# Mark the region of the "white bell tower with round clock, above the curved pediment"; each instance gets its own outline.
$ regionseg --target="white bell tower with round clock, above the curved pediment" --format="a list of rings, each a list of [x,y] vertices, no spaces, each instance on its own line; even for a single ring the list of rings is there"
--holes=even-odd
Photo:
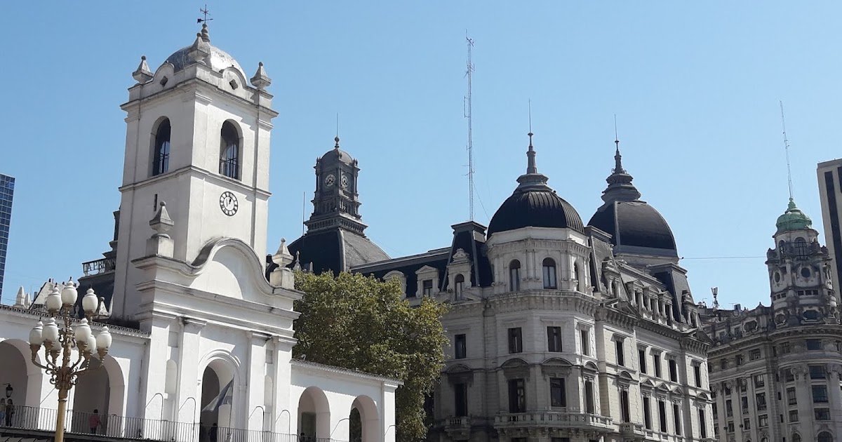
[[[127,116],[115,316],[136,312],[148,225],[159,202],[174,221],[173,258],[192,263],[213,239],[237,238],[264,256],[269,200],[271,80],[263,63],[249,80],[239,63],[210,45],[207,24],[192,45],[155,72],[146,56],[121,106]]]

